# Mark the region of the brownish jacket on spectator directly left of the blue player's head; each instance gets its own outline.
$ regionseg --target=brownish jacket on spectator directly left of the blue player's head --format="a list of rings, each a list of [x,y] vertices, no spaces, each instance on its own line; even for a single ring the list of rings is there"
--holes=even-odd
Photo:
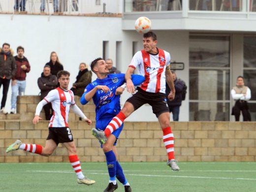
[[[76,87],[76,89],[72,89],[75,96],[82,96],[86,86],[92,83],[92,71],[88,71],[88,69],[84,69],[84,71],[85,70],[86,72],[82,74],[81,77],[79,77],[75,83],[73,83],[73,86]]]

